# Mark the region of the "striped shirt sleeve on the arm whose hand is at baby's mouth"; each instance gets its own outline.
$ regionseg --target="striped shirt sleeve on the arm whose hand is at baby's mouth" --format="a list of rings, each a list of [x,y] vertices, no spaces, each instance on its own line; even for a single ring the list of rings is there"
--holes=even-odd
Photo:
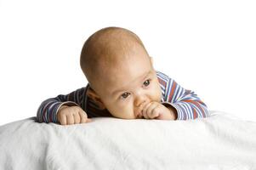
[[[207,105],[199,99],[197,94],[182,88],[169,77],[162,105],[172,105],[177,111],[177,120],[189,120],[208,116]]]

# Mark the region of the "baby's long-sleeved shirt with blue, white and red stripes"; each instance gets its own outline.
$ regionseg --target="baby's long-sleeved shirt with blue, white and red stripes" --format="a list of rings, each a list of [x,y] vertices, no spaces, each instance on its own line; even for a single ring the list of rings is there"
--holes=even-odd
[[[166,106],[172,105],[176,109],[177,120],[208,116],[207,105],[193,91],[182,88],[172,78],[160,71],[156,71],[156,76],[162,89],[161,103]],[[71,94],[60,94],[55,98],[44,100],[37,110],[37,121],[60,123],[57,120],[57,112],[61,105],[80,106],[88,114],[88,117],[111,116],[109,111],[101,110],[94,100],[88,97],[89,90],[90,87],[87,85]]]

